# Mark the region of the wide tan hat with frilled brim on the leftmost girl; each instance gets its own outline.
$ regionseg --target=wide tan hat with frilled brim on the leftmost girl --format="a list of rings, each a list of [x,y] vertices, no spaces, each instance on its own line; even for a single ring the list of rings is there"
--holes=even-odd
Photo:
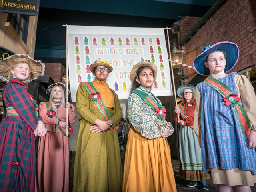
[[[38,78],[38,76],[40,75],[44,76],[44,63],[34,60],[28,54],[14,54],[7,58],[4,58],[3,60],[0,60],[0,79],[9,82],[9,69],[19,62],[27,63],[30,68],[30,75],[28,76],[28,79],[24,82],[30,82]]]

